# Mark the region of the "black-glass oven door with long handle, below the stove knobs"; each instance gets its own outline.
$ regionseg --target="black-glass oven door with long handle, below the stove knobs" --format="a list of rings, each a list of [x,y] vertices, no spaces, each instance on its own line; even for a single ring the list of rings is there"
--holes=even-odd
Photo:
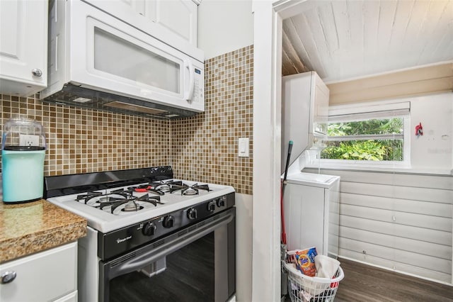
[[[99,262],[99,301],[227,301],[236,291],[235,208]],[[152,272],[150,272],[150,270]]]

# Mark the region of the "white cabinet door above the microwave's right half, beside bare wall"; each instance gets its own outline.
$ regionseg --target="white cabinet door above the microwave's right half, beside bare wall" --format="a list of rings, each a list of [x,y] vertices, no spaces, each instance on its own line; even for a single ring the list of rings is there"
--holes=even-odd
[[[192,0],[147,1],[147,17],[197,46],[197,4]]]

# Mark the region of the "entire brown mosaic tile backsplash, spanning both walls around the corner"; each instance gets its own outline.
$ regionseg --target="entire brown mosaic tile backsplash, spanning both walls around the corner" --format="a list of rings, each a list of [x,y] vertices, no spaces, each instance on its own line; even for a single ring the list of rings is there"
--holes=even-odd
[[[207,60],[205,83],[205,112],[173,121],[1,95],[0,130],[11,117],[42,123],[46,176],[171,164],[178,178],[251,194],[252,158],[237,152],[250,138],[252,154],[253,45]]]

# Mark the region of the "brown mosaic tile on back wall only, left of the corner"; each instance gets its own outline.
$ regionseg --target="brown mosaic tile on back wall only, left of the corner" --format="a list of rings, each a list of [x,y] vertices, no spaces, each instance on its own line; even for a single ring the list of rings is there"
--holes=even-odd
[[[11,117],[33,118],[44,125],[45,176],[170,163],[169,121],[6,95],[1,95],[0,113],[2,131]]]

